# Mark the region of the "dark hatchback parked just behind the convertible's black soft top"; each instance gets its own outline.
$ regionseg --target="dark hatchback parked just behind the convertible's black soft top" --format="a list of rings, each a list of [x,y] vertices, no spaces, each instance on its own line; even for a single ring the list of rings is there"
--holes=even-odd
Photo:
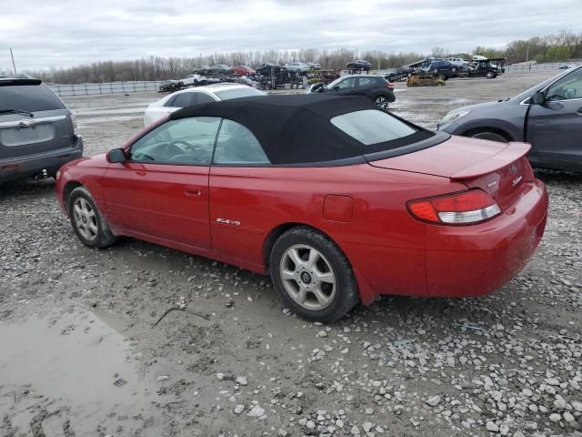
[[[396,100],[394,85],[382,76],[350,75],[339,77],[329,85],[314,84],[306,94],[329,93],[337,96],[366,96],[385,108]]]

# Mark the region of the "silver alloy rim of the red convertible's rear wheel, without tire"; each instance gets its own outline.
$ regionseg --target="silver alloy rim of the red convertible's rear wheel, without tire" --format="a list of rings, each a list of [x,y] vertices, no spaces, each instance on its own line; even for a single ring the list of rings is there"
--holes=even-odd
[[[286,249],[280,275],[291,299],[306,310],[323,310],[336,296],[336,275],[326,257],[306,244]]]

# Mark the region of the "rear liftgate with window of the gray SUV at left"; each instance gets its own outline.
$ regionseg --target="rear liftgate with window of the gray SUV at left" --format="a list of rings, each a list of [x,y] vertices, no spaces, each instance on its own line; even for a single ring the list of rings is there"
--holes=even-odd
[[[0,159],[68,147],[73,136],[70,113],[50,88],[0,80]]]

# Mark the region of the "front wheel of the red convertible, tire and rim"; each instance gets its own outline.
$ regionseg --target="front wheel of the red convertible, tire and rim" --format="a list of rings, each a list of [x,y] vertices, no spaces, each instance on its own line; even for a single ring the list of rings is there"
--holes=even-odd
[[[85,246],[102,249],[115,242],[115,235],[85,187],[77,187],[71,191],[68,211],[73,230]]]

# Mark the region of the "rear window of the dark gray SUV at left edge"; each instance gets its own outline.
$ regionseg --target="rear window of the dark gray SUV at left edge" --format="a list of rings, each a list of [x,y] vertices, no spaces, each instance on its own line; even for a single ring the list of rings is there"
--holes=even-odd
[[[64,107],[55,93],[45,85],[0,86],[0,111],[17,109],[38,112]]]

